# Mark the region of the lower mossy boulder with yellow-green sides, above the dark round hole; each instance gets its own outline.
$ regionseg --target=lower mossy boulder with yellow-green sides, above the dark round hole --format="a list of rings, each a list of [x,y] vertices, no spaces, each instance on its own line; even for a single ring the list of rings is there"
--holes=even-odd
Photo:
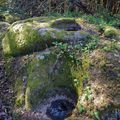
[[[76,98],[81,94],[82,80],[88,75],[86,59],[82,61],[83,68],[75,67],[64,57],[58,58],[52,49],[18,59],[14,70],[15,107],[31,110],[47,93],[47,98],[58,94],[59,90],[54,93],[55,89],[65,89],[66,95],[70,93]]]

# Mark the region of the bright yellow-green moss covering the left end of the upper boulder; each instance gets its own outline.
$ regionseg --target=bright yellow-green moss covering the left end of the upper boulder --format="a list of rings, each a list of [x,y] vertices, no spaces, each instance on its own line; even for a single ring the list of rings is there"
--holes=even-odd
[[[16,26],[17,27],[17,26]],[[27,25],[20,25],[18,31],[10,30],[3,40],[3,51],[9,55],[20,55],[34,51],[37,46],[42,46],[40,36],[36,30],[31,30]],[[41,43],[41,44],[40,44]]]

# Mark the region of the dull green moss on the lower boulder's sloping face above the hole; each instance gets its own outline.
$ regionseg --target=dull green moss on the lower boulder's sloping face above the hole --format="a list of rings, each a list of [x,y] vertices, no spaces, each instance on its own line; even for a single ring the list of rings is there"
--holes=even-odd
[[[39,55],[30,63],[25,93],[26,109],[36,106],[51,89],[63,87],[75,90],[69,64],[57,63],[59,68],[54,68],[55,63],[56,56],[51,53]]]

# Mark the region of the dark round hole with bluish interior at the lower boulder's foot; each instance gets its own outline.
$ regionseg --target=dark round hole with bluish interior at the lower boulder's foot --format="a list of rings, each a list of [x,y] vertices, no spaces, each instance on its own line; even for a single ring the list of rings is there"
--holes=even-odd
[[[73,103],[68,100],[56,100],[51,103],[51,106],[47,108],[46,114],[52,120],[64,120],[68,117],[72,110],[75,108]]]

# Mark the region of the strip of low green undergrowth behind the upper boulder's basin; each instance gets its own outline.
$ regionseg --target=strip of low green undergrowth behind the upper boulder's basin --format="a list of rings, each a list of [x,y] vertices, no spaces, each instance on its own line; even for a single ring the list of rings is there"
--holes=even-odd
[[[84,20],[87,20],[89,23],[92,24],[105,24],[110,26],[117,26],[120,25],[120,14],[110,14],[108,11],[103,10],[102,13],[97,13],[95,15],[87,14],[84,12],[65,12],[61,13],[46,13],[46,16],[59,16],[59,17],[80,17]]]

